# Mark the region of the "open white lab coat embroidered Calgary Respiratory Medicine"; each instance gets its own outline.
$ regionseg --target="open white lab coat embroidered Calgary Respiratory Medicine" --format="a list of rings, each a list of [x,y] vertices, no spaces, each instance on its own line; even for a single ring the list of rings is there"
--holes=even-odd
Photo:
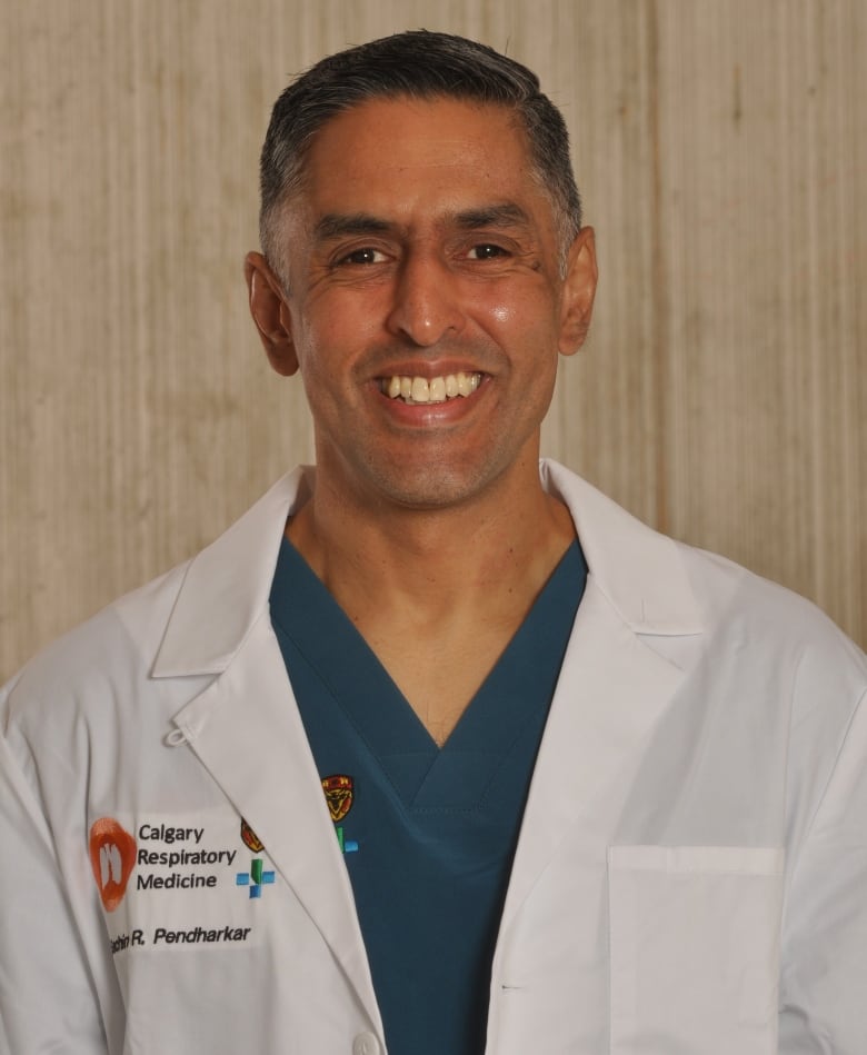
[[[590,577],[504,909],[488,1053],[864,1055],[864,655],[806,601],[561,467],[542,477]],[[268,613],[306,494],[297,470],[7,686],[0,1051],[385,1051]],[[113,878],[119,852],[88,859],[100,818],[156,855],[111,912],[97,874]],[[181,850],[217,863],[153,864]],[[258,898],[237,879],[253,857]],[[172,872],[216,885],[172,887]]]

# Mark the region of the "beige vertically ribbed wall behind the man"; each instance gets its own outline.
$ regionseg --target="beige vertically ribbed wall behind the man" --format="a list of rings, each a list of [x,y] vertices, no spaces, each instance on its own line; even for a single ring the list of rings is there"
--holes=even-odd
[[[241,281],[269,108],[425,26],[540,71],[602,279],[545,449],[867,639],[864,0],[0,10],[0,676],[310,457]]]

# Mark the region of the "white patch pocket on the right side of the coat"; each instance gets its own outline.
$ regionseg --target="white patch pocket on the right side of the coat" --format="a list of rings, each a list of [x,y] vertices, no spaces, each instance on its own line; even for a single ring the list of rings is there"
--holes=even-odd
[[[774,1055],[784,852],[608,850],[611,1055]]]

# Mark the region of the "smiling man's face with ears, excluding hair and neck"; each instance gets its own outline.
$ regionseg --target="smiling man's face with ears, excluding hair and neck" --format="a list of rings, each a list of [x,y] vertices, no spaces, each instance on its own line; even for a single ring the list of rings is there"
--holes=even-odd
[[[319,132],[306,175],[281,216],[286,291],[258,255],[247,273],[272,365],[303,378],[320,482],[442,508],[538,481],[558,354],[584,339],[596,267],[586,229],[562,277],[511,112],[369,101]]]

